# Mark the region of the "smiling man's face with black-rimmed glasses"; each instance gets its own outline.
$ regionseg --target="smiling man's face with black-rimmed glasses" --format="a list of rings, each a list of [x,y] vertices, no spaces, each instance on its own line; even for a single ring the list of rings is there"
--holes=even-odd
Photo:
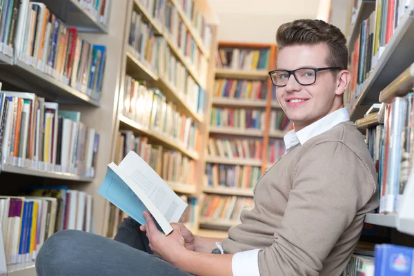
[[[282,48],[277,55],[277,69],[328,67],[327,56],[328,46],[325,44],[288,46]],[[276,95],[298,131],[337,109],[334,108],[336,86],[337,80],[333,77],[332,70],[317,72],[316,81],[310,86],[302,86],[290,75],[286,86],[277,87]]]

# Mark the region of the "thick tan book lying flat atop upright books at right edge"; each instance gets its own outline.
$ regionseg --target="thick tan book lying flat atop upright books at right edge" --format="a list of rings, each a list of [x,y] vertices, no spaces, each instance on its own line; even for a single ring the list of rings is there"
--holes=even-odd
[[[404,97],[414,86],[414,63],[380,92],[382,103],[391,103],[394,97]]]

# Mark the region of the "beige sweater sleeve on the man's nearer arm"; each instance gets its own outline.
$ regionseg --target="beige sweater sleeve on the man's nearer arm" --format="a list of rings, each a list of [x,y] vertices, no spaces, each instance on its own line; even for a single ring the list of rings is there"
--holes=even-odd
[[[371,171],[339,141],[317,144],[292,170],[281,227],[273,245],[259,251],[262,276],[319,275],[339,237],[375,192]]]

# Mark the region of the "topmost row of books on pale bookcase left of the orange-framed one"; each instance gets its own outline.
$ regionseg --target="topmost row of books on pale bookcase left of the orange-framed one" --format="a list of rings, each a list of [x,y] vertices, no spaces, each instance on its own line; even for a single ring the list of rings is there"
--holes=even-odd
[[[209,49],[211,44],[211,30],[203,14],[197,9],[194,0],[177,0],[176,3],[186,14],[193,28],[203,41],[204,48]]]

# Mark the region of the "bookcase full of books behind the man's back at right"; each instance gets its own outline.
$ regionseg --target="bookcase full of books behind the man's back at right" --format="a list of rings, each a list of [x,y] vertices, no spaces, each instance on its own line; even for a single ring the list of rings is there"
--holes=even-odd
[[[380,207],[376,214],[367,214],[365,222],[374,233],[390,230],[386,242],[355,251],[353,268],[368,271],[374,264],[393,264],[384,259],[389,257],[386,253],[381,257],[381,250],[395,250],[404,256],[402,261],[413,262],[406,254],[413,255],[414,247],[414,1],[352,2],[348,37],[352,79],[345,100],[351,119],[366,136],[380,184]],[[388,245],[378,246],[382,243]],[[375,275],[387,274],[375,268]]]

